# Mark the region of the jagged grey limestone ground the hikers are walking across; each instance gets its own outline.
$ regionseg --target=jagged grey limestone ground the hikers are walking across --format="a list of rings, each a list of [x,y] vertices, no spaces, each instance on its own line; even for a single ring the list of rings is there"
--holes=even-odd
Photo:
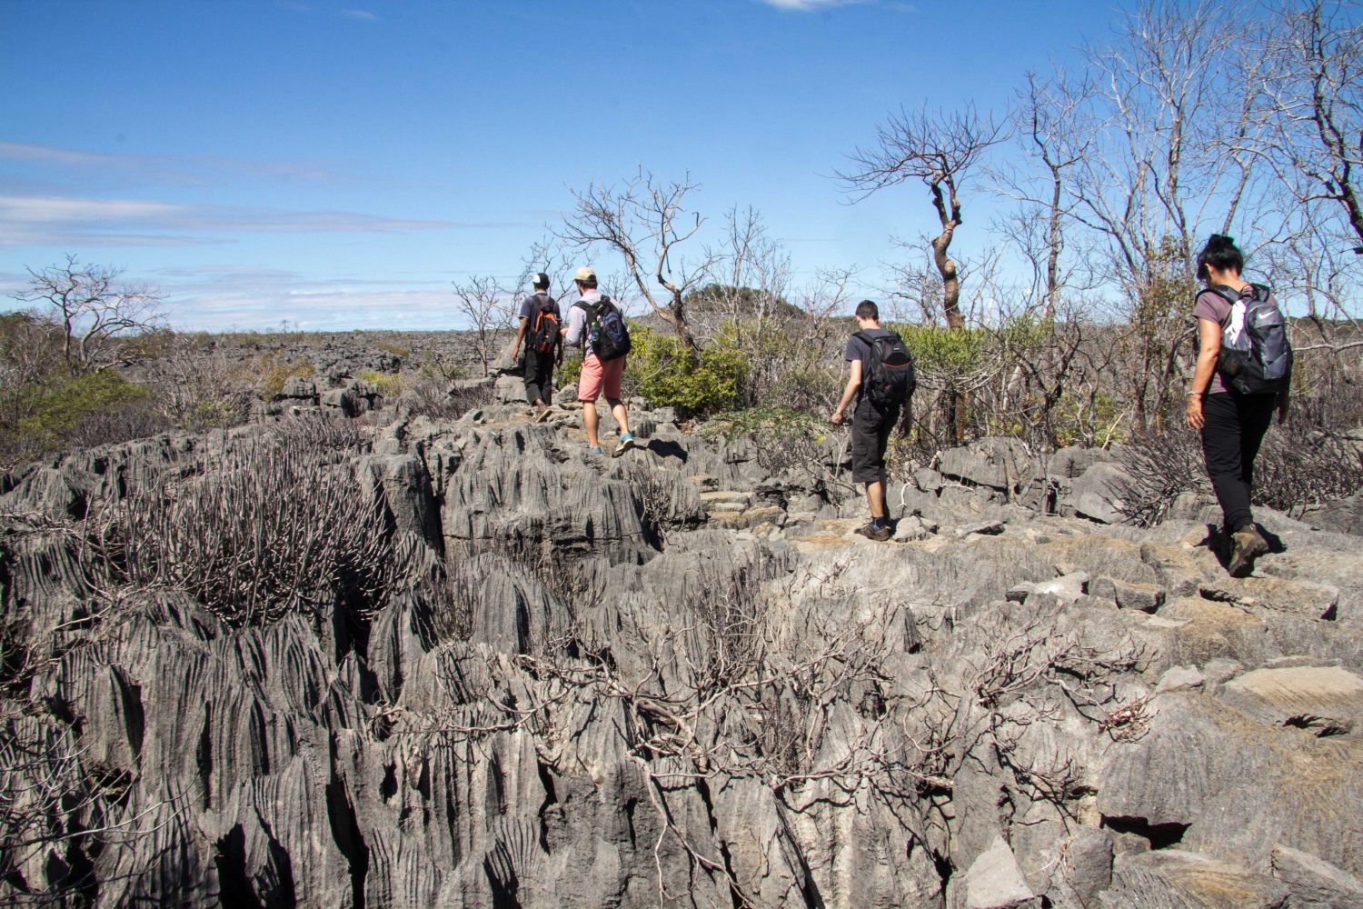
[[[1363,906],[1358,496],[1232,579],[1210,499],[1122,525],[1108,452],[990,439],[876,544],[836,440],[773,474],[635,409],[597,458],[503,391],[296,420],[391,571],[270,621],[82,518],[289,420],[0,477],[0,904]]]

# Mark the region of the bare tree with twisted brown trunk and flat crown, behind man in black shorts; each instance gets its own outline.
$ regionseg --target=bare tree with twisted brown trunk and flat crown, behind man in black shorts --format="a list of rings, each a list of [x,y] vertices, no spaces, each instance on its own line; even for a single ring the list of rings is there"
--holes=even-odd
[[[930,240],[932,259],[942,275],[942,312],[951,328],[965,324],[957,263],[949,249],[962,224],[961,187],[984,151],[999,142],[1003,127],[973,106],[958,112],[910,112],[901,108],[876,129],[875,143],[852,153],[853,168],[838,179],[856,198],[908,180],[928,188],[940,233]]]

